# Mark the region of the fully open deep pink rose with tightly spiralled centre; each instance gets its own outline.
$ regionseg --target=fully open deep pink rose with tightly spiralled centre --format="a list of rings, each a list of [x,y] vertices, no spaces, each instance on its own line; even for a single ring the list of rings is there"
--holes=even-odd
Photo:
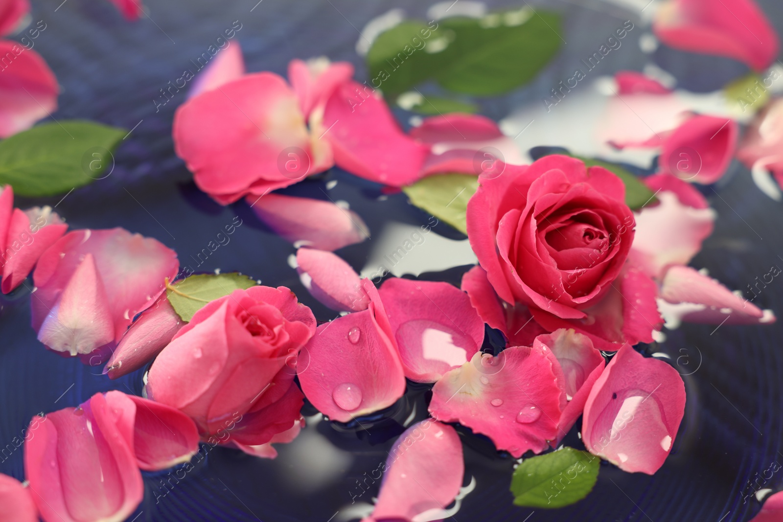
[[[467,236],[497,294],[582,319],[618,277],[633,243],[625,185],[602,167],[552,155],[482,178]]]

